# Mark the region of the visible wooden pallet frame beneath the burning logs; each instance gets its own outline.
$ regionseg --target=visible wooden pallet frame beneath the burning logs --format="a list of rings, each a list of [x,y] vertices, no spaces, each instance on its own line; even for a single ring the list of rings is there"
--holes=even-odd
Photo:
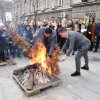
[[[24,90],[26,96],[30,97],[33,96],[35,94],[40,93],[41,91],[45,91],[48,88],[53,88],[59,85],[62,85],[62,81],[56,77],[55,80],[53,82],[49,82],[47,84],[42,84],[42,85],[34,85],[33,90],[27,90],[18,80],[16,75],[13,75],[13,78],[15,79],[15,81],[20,85],[20,87]]]

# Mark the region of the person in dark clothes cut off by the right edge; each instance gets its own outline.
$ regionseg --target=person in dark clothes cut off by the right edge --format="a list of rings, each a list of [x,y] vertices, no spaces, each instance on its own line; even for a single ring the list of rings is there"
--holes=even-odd
[[[95,46],[95,51],[94,52],[97,52],[98,51],[98,48],[99,48],[99,42],[100,42],[100,23],[97,23],[96,25],[96,46]]]

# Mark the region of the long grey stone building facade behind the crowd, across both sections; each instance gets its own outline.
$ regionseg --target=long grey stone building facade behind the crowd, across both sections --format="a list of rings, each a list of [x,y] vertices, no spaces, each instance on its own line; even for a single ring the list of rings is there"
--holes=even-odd
[[[78,20],[93,15],[100,18],[100,0],[16,0],[13,16],[16,19],[37,20],[56,17]]]

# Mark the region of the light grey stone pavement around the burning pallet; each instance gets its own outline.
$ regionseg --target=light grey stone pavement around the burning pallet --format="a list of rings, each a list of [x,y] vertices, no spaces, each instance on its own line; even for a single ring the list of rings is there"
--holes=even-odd
[[[61,86],[47,89],[32,97],[26,97],[12,78],[13,70],[28,65],[28,59],[16,58],[16,66],[0,67],[0,100],[100,100],[100,52],[89,52],[90,71],[81,70],[82,75],[73,78],[70,74],[75,71],[74,58],[71,55],[65,62],[59,63]]]

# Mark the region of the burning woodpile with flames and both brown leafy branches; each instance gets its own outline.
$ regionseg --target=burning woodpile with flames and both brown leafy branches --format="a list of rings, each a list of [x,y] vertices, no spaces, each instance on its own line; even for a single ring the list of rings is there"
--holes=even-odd
[[[13,28],[10,28],[13,44],[18,43],[19,48],[25,49],[25,55],[30,58],[31,64],[25,68],[14,70],[20,83],[27,89],[32,90],[34,85],[47,84],[56,79],[59,74],[59,56],[60,48],[55,46],[55,50],[50,58],[47,58],[47,51],[43,43],[30,45],[23,37],[16,34]]]

